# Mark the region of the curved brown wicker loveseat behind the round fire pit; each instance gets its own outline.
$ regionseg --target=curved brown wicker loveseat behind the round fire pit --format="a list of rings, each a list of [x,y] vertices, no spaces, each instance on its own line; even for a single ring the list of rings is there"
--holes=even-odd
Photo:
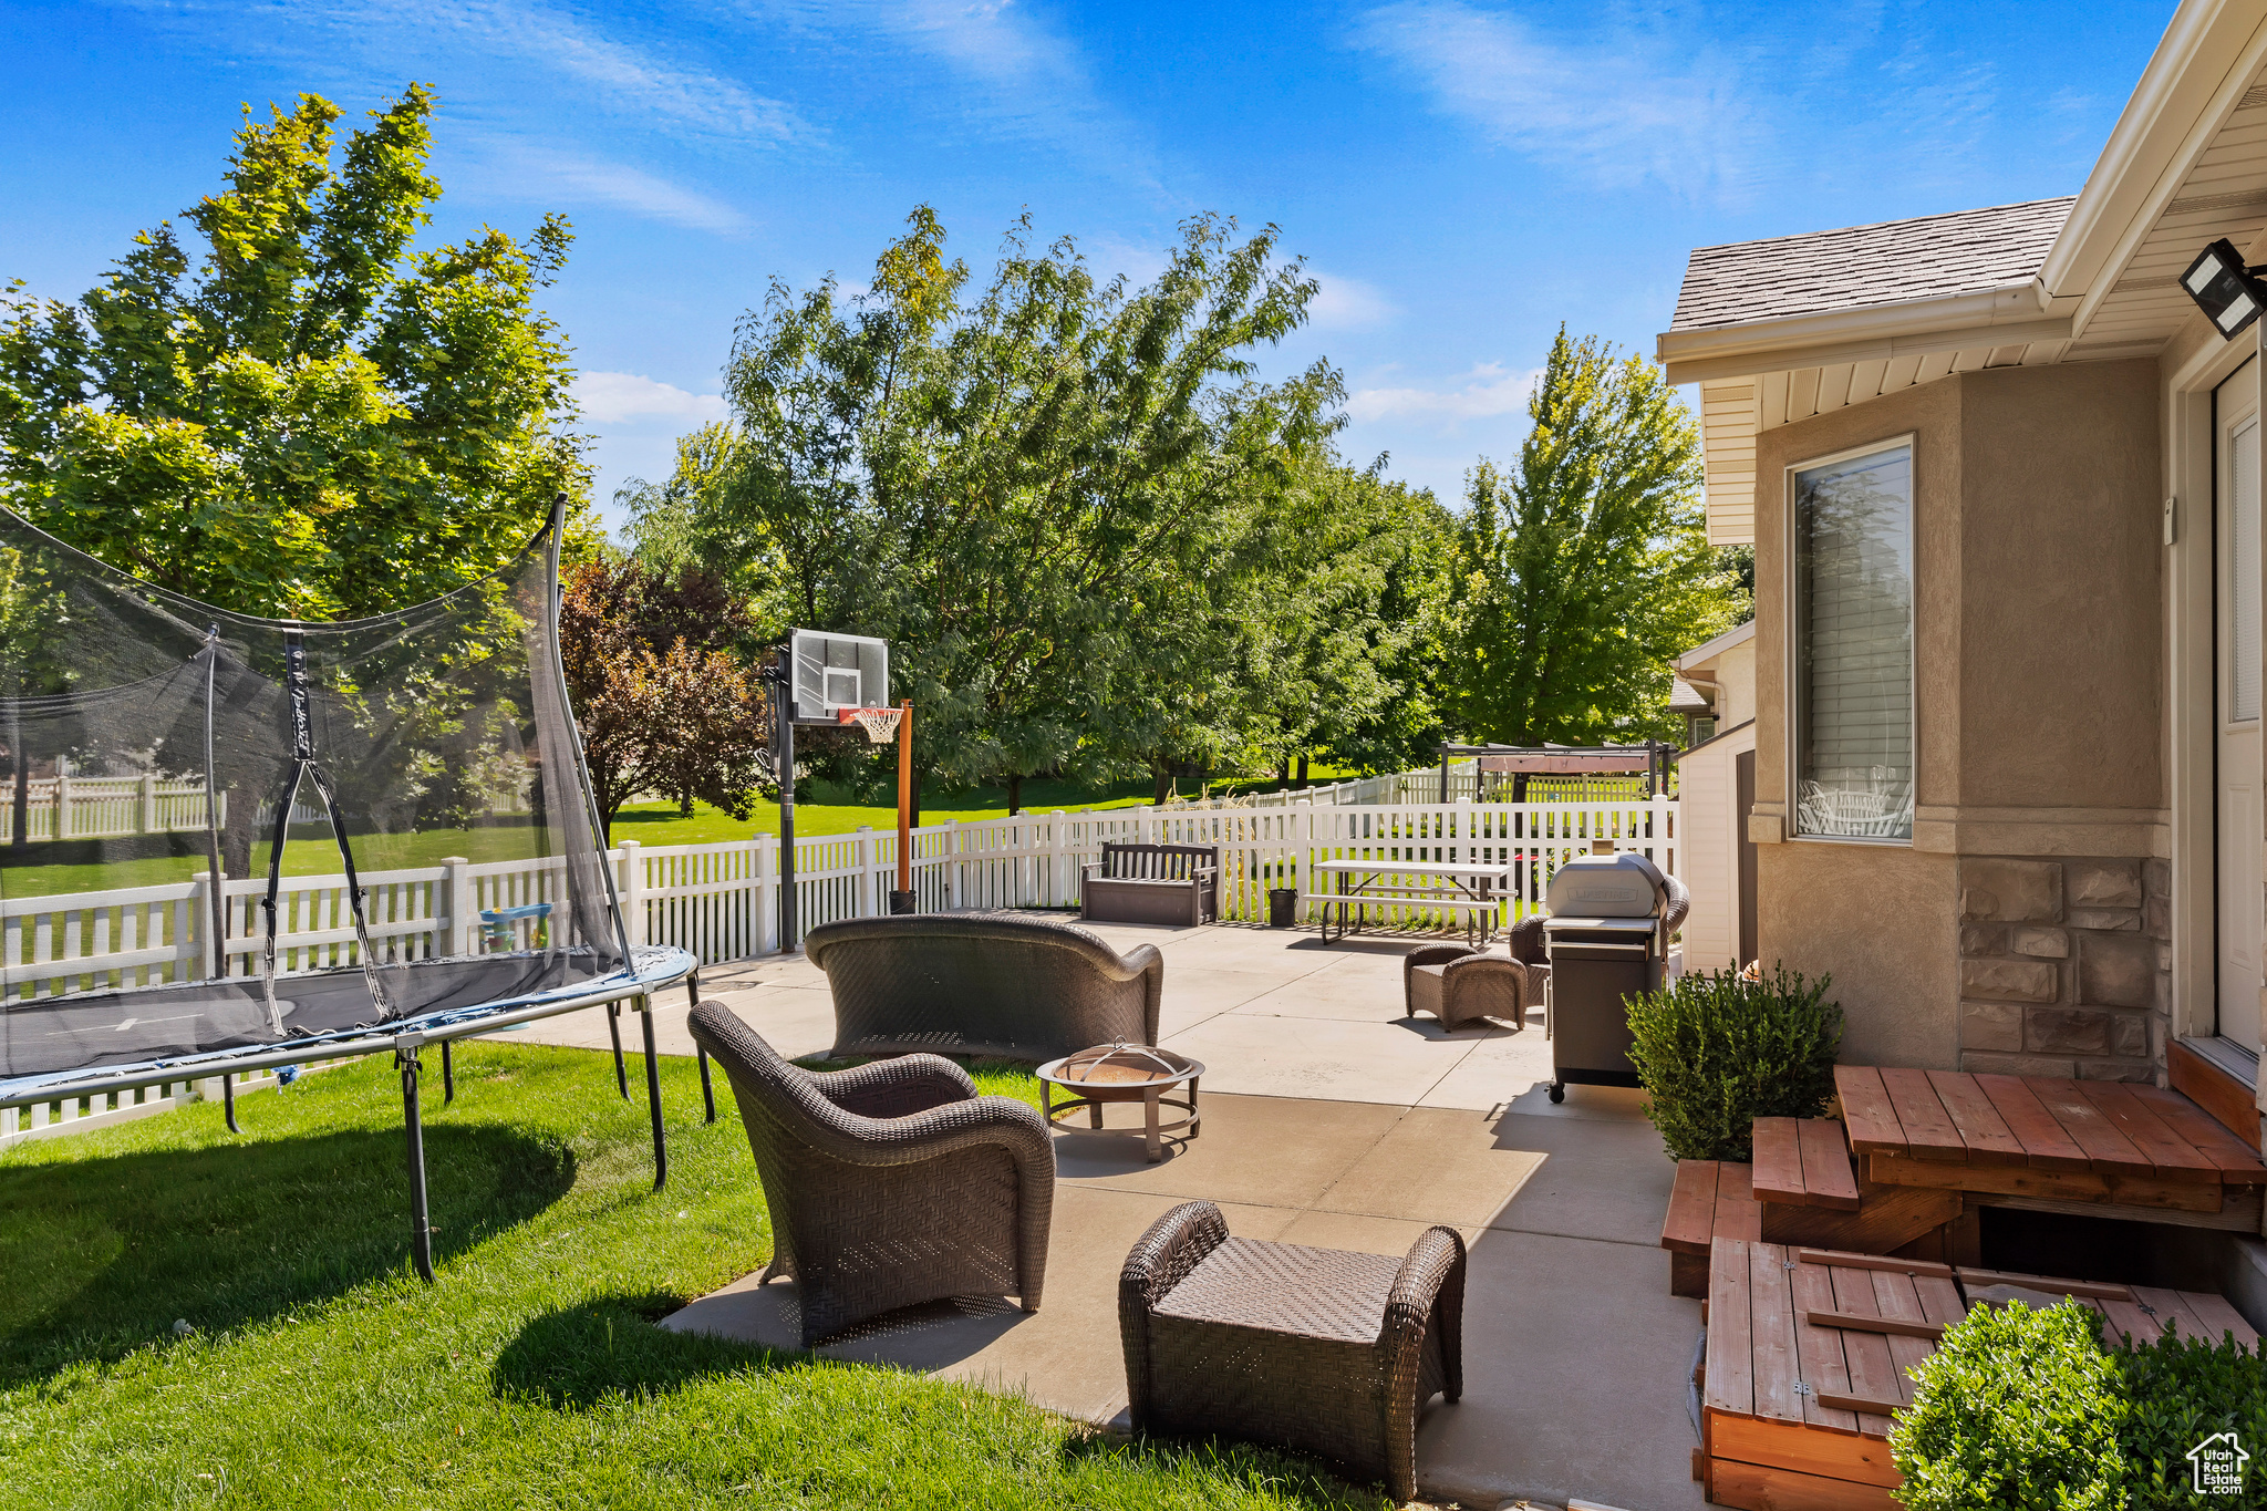
[[[1165,956],[1120,956],[1077,924],[923,913],[821,924],[803,940],[834,992],[834,1053],[1054,1060],[1095,1044],[1156,1044]]]

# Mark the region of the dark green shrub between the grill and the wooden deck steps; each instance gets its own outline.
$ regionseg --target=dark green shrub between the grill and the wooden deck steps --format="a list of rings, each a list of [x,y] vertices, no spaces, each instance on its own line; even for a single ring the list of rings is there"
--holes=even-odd
[[[1628,999],[1630,1062],[1669,1158],[1748,1160],[1757,1117],[1818,1117],[1841,1049],[1832,983],[1777,965],[1768,981],[1696,974]]]

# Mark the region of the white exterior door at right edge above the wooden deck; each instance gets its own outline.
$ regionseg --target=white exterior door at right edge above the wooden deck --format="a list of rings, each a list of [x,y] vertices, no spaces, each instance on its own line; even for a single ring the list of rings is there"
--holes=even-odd
[[[2219,385],[2215,412],[2213,530],[2219,598],[2219,750],[2215,838],[2219,854],[2219,1038],[2260,1051],[2260,936],[2267,897],[2260,852],[2260,381],[2258,362]]]

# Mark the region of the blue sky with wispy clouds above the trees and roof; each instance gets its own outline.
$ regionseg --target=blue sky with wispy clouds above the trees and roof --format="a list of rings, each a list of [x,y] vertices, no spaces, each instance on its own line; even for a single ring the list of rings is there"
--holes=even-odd
[[[218,183],[238,104],[440,93],[435,238],[578,231],[549,308],[601,501],[721,415],[778,274],[861,283],[914,204],[1145,276],[1195,213],[1322,279],[1265,358],[1453,498],[1560,322],[1653,349],[1689,247],[2074,193],[2170,0],[2129,5],[0,5],[0,281],[75,297]],[[1829,29],[1827,29],[1829,27]]]

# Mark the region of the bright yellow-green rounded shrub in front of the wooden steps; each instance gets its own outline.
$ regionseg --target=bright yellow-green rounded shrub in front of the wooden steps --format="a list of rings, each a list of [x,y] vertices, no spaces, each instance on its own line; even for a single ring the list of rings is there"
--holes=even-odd
[[[1904,1475],[1891,1495],[1911,1511],[2122,1506],[2124,1393],[2099,1325],[2099,1312],[2065,1300],[1977,1307],[1945,1328],[1888,1429]]]

